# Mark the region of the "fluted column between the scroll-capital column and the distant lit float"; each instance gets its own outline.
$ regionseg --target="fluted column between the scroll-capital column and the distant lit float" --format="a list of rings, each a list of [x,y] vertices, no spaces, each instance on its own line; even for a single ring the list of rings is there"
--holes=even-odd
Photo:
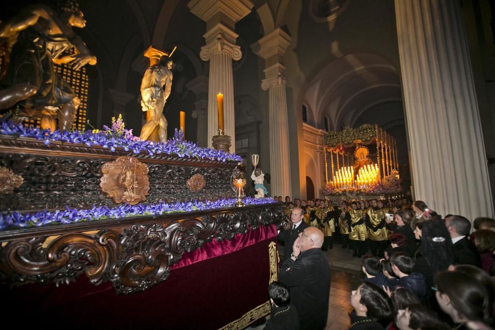
[[[283,30],[276,29],[251,45],[253,51],[265,59],[263,70],[266,79],[261,88],[269,97],[269,146],[271,189],[273,195],[292,196],[291,170],[289,159],[289,123],[287,118],[285,66],[281,64],[291,37]],[[270,65],[269,63],[275,63]]]

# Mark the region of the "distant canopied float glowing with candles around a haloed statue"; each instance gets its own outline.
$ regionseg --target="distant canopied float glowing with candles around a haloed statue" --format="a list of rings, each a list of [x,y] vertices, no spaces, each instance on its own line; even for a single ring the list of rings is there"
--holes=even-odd
[[[378,125],[344,128],[324,137],[324,194],[346,198],[396,197],[400,188],[396,139]]]

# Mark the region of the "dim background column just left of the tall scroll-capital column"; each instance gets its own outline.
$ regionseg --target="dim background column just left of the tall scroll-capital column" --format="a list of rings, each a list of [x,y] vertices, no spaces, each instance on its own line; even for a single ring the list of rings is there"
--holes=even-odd
[[[208,146],[208,77],[198,76],[186,84],[188,90],[196,94],[193,118],[198,119],[196,142],[199,146]]]

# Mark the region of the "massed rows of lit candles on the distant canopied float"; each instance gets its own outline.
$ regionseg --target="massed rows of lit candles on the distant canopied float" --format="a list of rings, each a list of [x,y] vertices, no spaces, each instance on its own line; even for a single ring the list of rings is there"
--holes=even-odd
[[[377,164],[367,164],[359,169],[354,179],[352,166],[341,167],[330,182],[337,189],[361,188],[366,189],[375,186],[380,181],[380,170]]]

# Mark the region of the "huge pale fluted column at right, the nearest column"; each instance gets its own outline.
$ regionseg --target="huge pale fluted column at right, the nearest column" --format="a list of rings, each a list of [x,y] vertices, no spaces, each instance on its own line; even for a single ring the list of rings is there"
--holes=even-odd
[[[459,1],[395,5],[415,198],[442,215],[493,217]]]

